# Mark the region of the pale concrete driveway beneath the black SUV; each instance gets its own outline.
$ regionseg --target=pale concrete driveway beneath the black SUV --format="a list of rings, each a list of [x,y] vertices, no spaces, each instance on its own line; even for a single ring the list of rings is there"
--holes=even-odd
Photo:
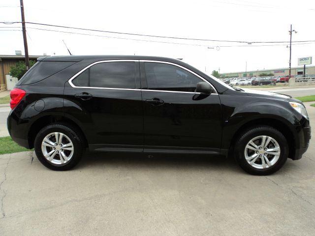
[[[314,140],[267,177],[205,156],[87,153],[55,172],[32,152],[0,155],[0,235],[314,236],[314,170]]]

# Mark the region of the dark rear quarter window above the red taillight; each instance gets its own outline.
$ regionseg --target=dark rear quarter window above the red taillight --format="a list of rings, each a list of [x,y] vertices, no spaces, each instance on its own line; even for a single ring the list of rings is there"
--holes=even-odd
[[[73,61],[38,61],[25,73],[17,85],[30,85],[44,80],[73,65]]]

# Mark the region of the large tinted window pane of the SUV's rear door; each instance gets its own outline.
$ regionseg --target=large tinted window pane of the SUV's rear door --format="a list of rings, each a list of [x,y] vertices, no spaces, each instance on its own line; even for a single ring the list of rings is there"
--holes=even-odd
[[[135,62],[103,62],[90,67],[90,86],[135,89]]]

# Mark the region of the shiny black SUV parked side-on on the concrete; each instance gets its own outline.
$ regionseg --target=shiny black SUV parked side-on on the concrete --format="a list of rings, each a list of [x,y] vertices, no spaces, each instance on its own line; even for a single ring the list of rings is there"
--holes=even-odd
[[[176,59],[43,57],[11,91],[12,139],[68,170],[85,148],[234,155],[255,175],[300,159],[311,128],[302,102],[230,87]]]

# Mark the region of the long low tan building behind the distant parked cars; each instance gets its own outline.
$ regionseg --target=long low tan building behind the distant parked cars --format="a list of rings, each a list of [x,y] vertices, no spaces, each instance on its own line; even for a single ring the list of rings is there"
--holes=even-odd
[[[303,65],[299,67],[291,68],[291,75],[303,75]],[[279,69],[269,69],[269,70],[251,70],[251,71],[241,71],[241,72],[233,72],[233,73],[221,73],[221,77],[255,77],[259,76],[259,74],[274,74],[274,76],[283,76],[289,75],[289,68],[279,68]],[[315,66],[306,66],[305,69],[306,75],[315,75]]]

